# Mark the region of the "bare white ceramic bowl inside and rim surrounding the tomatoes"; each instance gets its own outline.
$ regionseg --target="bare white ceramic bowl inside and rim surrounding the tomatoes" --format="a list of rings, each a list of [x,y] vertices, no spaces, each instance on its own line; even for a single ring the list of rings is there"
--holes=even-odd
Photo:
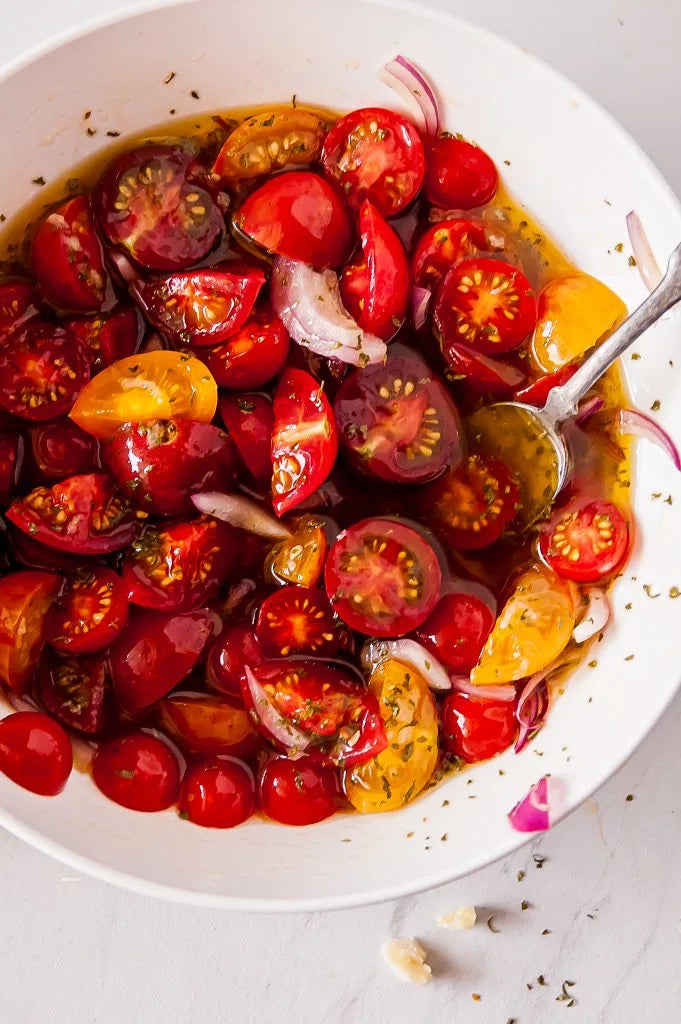
[[[609,252],[626,237],[626,213],[638,210],[661,261],[681,239],[679,206],[648,160],[545,65],[453,17],[401,2],[197,0],[146,8],[29,55],[0,77],[3,210],[35,193],[32,178],[53,178],[103,144],[108,129],[140,129],[165,120],[171,106],[182,116],[287,100],[294,92],[341,110],[395,105],[376,77],[395,52],[427,71],[445,126],[493,155],[511,189],[576,262],[630,307],[640,302],[644,290],[626,251]],[[171,71],[175,78],[166,85]],[[94,137],[84,131],[86,109]],[[681,376],[670,365],[677,357],[681,366],[678,331],[673,315],[661,323],[638,346],[640,360],[627,360],[627,376],[636,402],[648,409],[658,399],[662,422],[681,438]],[[671,494],[675,503],[652,500],[652,493]],[[635,506],[636,550],[614,590],[614,623],[598,647],[598,665],[572,675],[544,731],[519,757],[507,754],[452,778],[399,812],[340,815],[298,829],[254,820],[225,833],[190,827],[173,812],[126,811],[78,774],[54,800],[1,777],[0,822],[107,881],[238,909],[369,903],[472,871],[524,841],[506,812],[531,782],[551,773],[562,783],[562,813],[571,810],[630,756],[678,686],[681,600],[667,595],[681,586],[681,486],[665,457],[645,444]],[[646,596],[645,584],[662,596]],[[443,833],[448,842],[440,842]]]

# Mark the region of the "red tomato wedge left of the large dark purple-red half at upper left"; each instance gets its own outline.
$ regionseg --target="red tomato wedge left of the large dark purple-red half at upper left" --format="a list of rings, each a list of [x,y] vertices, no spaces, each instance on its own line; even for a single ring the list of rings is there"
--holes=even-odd
[[[31,261],[50,305],[83,313],[101,309],[109,279],[87,197],[70,199],[38,224]]]

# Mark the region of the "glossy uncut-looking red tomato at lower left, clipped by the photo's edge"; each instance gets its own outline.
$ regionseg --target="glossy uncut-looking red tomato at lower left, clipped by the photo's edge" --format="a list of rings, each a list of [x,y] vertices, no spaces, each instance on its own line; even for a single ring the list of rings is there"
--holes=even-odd
[[[71,741],[42,712],[19,711],[0,722],[0,771],[41,797],[61,793],[74,766]]]

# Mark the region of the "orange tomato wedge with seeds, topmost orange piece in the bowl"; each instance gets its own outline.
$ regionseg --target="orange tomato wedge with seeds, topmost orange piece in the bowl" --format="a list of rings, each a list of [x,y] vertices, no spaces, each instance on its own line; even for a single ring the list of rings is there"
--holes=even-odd
[[[313,164],[320,156],[326,123],[311,111],[263,111],[231,132],[211,173],[227,181],[257,178],[291,164]]]

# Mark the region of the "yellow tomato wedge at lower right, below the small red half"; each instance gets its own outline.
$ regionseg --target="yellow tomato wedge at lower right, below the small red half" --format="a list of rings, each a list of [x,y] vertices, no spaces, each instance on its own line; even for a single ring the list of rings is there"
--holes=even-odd
[[[543,565],[517,580],[471,673],[476,686],[514,683],[545,669],[574,629],[570,585]]]

